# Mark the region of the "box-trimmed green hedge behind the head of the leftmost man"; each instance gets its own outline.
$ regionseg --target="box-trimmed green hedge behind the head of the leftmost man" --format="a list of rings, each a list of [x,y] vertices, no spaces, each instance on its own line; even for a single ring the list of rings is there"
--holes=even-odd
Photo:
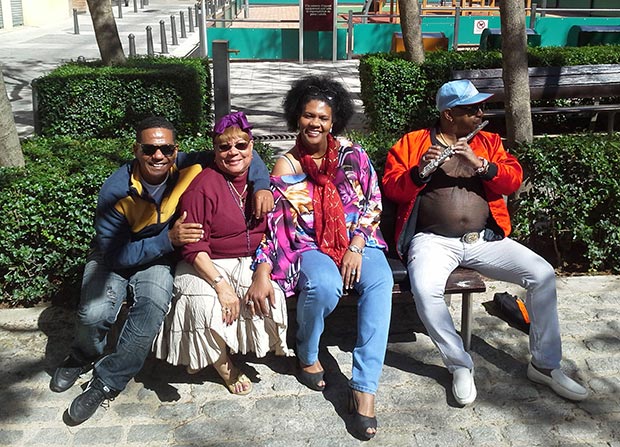
[[[203,59],[130,58],[117,67],[71,62],[34,86],[36,127],[44,136],[127,136],[149,115],[166,117],[179,135],[211,128],[211,74]]]

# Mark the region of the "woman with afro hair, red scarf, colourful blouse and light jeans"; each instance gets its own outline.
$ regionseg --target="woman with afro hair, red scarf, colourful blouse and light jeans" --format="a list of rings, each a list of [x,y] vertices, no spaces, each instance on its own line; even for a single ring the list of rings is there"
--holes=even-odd
[[[257,251],[256,275],[298,295],[298,379],[322,391],[325,371],[319,340],[325,318],[345,289],[358,298],[357,340],[349,382],[352,432],[363,439],[377,431],[375,393],[385,358],[392,300],[392,273],[379,231],[381,193],[366,152],[334,135],[345,129],[353,101],[326,76],[295,81],[284,115],[295,146],[272,171],[275,207]]]

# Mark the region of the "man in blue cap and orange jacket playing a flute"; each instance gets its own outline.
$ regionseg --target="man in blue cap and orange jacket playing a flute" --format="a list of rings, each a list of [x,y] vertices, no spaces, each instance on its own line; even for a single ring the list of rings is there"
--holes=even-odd
[[[588,391],[560,369],[553,267],[508,237],[504,196],[519,188],[523,171],[499,135],[480,131],[483,104],[491,96],[468,80],[444,84],[436,97],[437,125],[406,134],[390,150],[383,188],[398,205],[397,250],[407,260],[416,309],[453,375],[460,405],[476,399],[476,386],[471,356],[444,301],[446,280],[458,266],[526,288],[532,356],[527,377],[566,399],[583,400]]]

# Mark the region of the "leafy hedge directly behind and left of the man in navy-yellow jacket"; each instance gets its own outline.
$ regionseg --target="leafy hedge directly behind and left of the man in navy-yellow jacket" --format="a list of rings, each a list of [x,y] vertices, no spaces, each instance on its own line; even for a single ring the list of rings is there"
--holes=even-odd
[[[24,169],[0,168],[0,303],[76,302],[99,189],[132,158],[132,142],[38,138],[23,145]],[[202,150],[211,141],[190,137],[179,145]],[[271,147],[254,147],[271,166]]]

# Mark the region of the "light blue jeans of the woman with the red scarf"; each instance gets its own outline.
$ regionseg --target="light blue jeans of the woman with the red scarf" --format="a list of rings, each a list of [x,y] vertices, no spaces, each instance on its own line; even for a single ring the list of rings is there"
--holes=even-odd
[[[392,270],[381,250],[365,250],[360,278],[355,285],[359,294],[357,341],[350,386],[375,394],[385,359],[394,285]],[[329,256],[318,250],[302,254],[297,284],[297,355],[301,363],[312,365],[318,360],[325,317],[336,308],[342,288],[340,271]]]

